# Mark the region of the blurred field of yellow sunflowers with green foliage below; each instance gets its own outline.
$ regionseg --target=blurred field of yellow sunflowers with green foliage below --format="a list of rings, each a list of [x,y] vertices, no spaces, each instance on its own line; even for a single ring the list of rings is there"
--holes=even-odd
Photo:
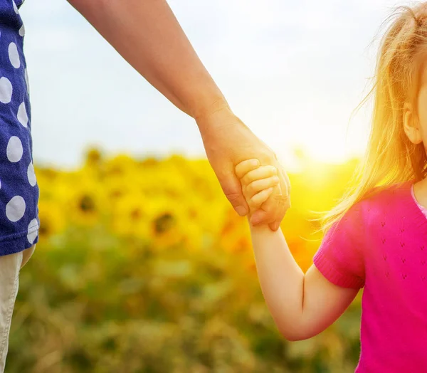
[[[322,240],[312,211],[337,203],[359,160],[298,154],[282,230],[306,271]],[[21,270],[6,372],[354,372],[361,294],[320,335],[286,341],[248,222],[206,159],[91,147],[79,169],[35,172],[39,241]]]

